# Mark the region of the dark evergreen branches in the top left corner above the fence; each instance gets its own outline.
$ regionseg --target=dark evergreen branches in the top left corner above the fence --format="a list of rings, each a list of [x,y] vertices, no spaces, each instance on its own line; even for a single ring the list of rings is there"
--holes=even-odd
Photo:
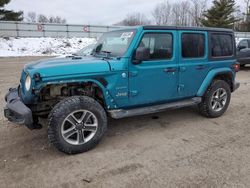
[[[5,10],[4,6],[8,4],[10,0],[0,0],[0,20],[4,21],[22,21],[23,12],[14,12],[12,10]]]

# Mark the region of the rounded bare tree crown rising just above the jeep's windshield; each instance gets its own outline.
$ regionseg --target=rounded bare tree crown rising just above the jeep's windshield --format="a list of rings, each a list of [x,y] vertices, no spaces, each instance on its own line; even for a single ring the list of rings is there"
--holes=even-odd
[[[144,14],[140,12],[135,12],[132,14],[128,14],[124,20],[115,25],[135,26],[147,24],[150,24],[150,20],[148,20]]]

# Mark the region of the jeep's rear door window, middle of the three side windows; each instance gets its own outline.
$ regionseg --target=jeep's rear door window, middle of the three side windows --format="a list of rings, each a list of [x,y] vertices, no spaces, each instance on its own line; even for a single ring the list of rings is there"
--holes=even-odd
[[[202,33],[183,33],[181,36],[182,57],[200,58],[205,55],[205,35]]]

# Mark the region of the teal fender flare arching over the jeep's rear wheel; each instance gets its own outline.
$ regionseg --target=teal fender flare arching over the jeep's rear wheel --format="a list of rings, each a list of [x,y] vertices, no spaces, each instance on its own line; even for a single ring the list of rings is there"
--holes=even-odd
[[[233,71],[230,68],[217,68],[209,71],[205,79],[203,80],[196,96],[202,97],[206,92],[207,88],[213,81],[213,79],[218,75],[229,74],[233,78]]]

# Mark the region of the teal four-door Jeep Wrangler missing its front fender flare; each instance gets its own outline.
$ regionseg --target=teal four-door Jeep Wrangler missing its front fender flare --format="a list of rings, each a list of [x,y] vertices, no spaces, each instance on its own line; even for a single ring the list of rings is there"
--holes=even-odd
[[[198,105],[221,116],[239,87],[232,30],[138,26],[103,34],[89,56],[25,65],[9,89],[5,117],[30,129],[48,116],[48,139],[60,151],[85,152],[115,119]]]

